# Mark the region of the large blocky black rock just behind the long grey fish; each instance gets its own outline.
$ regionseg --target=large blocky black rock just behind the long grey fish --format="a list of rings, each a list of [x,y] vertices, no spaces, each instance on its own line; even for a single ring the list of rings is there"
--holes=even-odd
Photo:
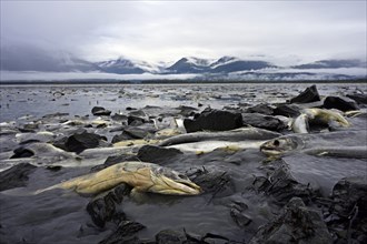
[[[221,110],[205,110],[194,120],[184,120],[188,133],[196,131],[227,131],[242,126],[240,113]]]

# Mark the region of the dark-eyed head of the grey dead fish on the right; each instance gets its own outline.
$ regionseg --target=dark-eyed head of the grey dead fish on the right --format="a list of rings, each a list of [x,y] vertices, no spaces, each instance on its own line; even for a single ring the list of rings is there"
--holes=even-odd
[[[297,142],[291,138],[278,138],[260,145],[260,151],[267,156],[278,156],[297,148]]]

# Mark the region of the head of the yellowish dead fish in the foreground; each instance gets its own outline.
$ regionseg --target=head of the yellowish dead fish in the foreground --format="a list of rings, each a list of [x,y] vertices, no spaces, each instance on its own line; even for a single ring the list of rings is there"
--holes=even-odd
[[[185,174],[167,167],[155,167],[151,170],[152,185],[149,192],[168,195],[198,195],[201,187],[190,181]]]

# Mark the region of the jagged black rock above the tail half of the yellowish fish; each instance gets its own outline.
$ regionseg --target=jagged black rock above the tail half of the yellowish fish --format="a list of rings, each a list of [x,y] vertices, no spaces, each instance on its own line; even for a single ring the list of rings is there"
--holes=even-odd
[[[93,133],[82,132],[69,136],[65,142],[65,146],[61,146],[69,152],[81,153],[86,149],[98,148],[102,141],[106,142],[107,138]]]

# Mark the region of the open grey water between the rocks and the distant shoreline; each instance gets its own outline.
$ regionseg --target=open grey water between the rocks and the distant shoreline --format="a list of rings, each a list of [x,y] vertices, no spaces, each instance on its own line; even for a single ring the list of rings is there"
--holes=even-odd
[[[22,116],[40,118],[50,113],[71,116],[90,114],[93,106],[105,106],[113,113],[126,108],[146,105],[204,108],[256,105],[261,102],[284,102],[310,84],[93,84],[93,85],[1,85],[0,122]],[[320,95],[367,92],[364,84],[318,84]]]

